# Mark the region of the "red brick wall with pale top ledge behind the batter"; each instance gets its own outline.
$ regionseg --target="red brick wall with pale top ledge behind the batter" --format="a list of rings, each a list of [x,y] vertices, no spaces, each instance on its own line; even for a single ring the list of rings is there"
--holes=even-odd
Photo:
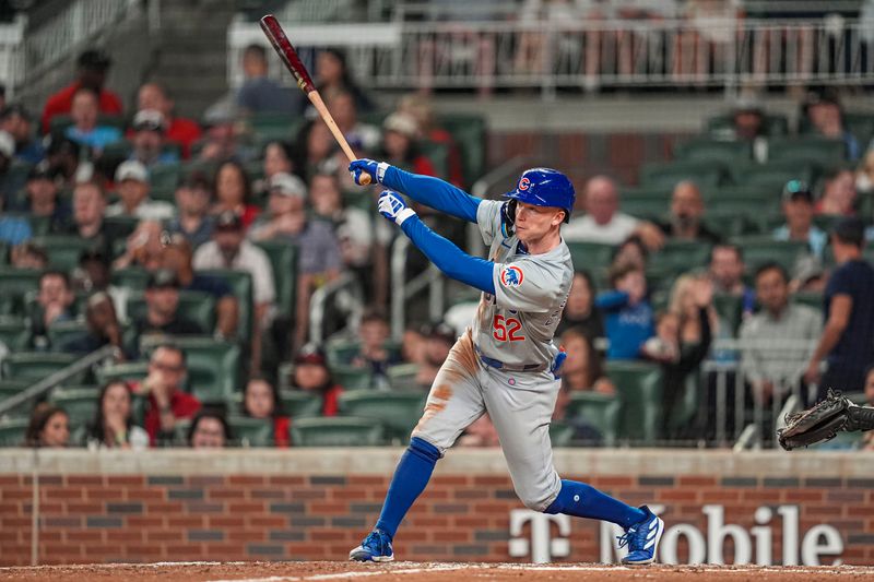
[[[399,452],[331,451],[319,462],[314,451],[228,451],[214,456],[154,452],[135,459],[44,452],[48,458],[40,460],[39,560],[344,559],[376,520]],[[724,523],[746,531],[761,525],[754,522],[758,508],[796,506],[800,537],[828,523],[840,532],[841,560],[874,561],[874,471],[859,473],[855,466],[871,467],[871,459],[857,459],[851,465],[846,459],[850,455],[838,453],[815,463],[810,453],[770,459],[780,453],[751,453],[732,466],[719,461],[720,453],[706,451],[651,454],[657,459],[627,451],[563,451],[557,464],[566,472],[563,476],[587,480],[630,503],[664,506],[669,527],[684,522],[706,533],[702,507],[708,503],[722,506]],[[619,455],[634,459],[616,462],[613,458]],[[4,566],[29,563],[32,459],[29,451],[0,453]],[[395,551],[411,560],[513,561],[508,555],[509,515],[521,504],[499,453],[457,451],[441,465],[402,525]],[[577,470],[568,472],[569,466]],[[631,468],[638,466],[639,471]],[[781,520],[767,525],[772,527],[772,554],[779,563]],[[528,526],[521,535],[529,535]],[[575,519],[566,559],[598,561],[602,535],[597,522]],[[727,561],[732,561],[731,542],[724,546]],[[687,553],[681,541],[681,561]],[[832,558],[824,558],[824,563]]]

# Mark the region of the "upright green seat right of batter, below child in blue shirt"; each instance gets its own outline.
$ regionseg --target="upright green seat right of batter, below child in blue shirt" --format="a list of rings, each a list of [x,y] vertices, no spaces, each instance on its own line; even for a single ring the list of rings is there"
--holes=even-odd
[[[647,361],[610,360],[605,371],[622,403],[619,438],[651,446],[660,438],[661,368]]]

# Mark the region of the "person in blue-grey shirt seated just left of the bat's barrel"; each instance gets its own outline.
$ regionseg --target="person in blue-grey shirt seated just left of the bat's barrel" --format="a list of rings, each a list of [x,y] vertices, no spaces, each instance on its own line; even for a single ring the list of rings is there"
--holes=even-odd
[[[247,114],[304,112],[299,91],[283,87],[267,75],[267,50],[261,45],[249,45],[243,51],[245,81],[237,91],[237,106]]]

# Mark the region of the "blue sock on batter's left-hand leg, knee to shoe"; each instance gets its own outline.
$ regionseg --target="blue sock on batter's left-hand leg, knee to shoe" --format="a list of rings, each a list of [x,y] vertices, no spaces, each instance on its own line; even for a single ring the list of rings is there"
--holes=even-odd
[[[440,451],[418,437],[410,439],[410,447],[401,456],[394,476],[391,477],[386,502],[376,528],[388,534],[392,539],[401,520],[410,511],[413,502],[425,490],[425,486],[434,473],[434,465],[440,459]]]

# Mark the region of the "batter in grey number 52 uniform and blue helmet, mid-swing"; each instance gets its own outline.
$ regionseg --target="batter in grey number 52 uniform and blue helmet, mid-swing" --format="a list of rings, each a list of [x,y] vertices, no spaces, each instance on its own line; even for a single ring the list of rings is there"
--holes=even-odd
[[[576,198],[570,180],[547,168],[525,170],[509,200],[473,198],[387,163],[357,159],[356,183],[367,174],[381,193],[379,213],[394,222],[446,275],[483,292],[473,325],[456,342],[428,394],[425,412],[392,477],[382,512],[351,560],[391,561],[398,526],[425,489],[437,461],[462,430],[488,412],[522,502],[536,511],[606,520],[625,534],[627,565],[656,558],[664,523],[646,506],[634,508],[584,483],[562,480],[553,466],[550,421],[565,354],[553,343],[574,265],[560,236]],[[471,257],[430,230],[398,192],[476,223],[488,260]]]

